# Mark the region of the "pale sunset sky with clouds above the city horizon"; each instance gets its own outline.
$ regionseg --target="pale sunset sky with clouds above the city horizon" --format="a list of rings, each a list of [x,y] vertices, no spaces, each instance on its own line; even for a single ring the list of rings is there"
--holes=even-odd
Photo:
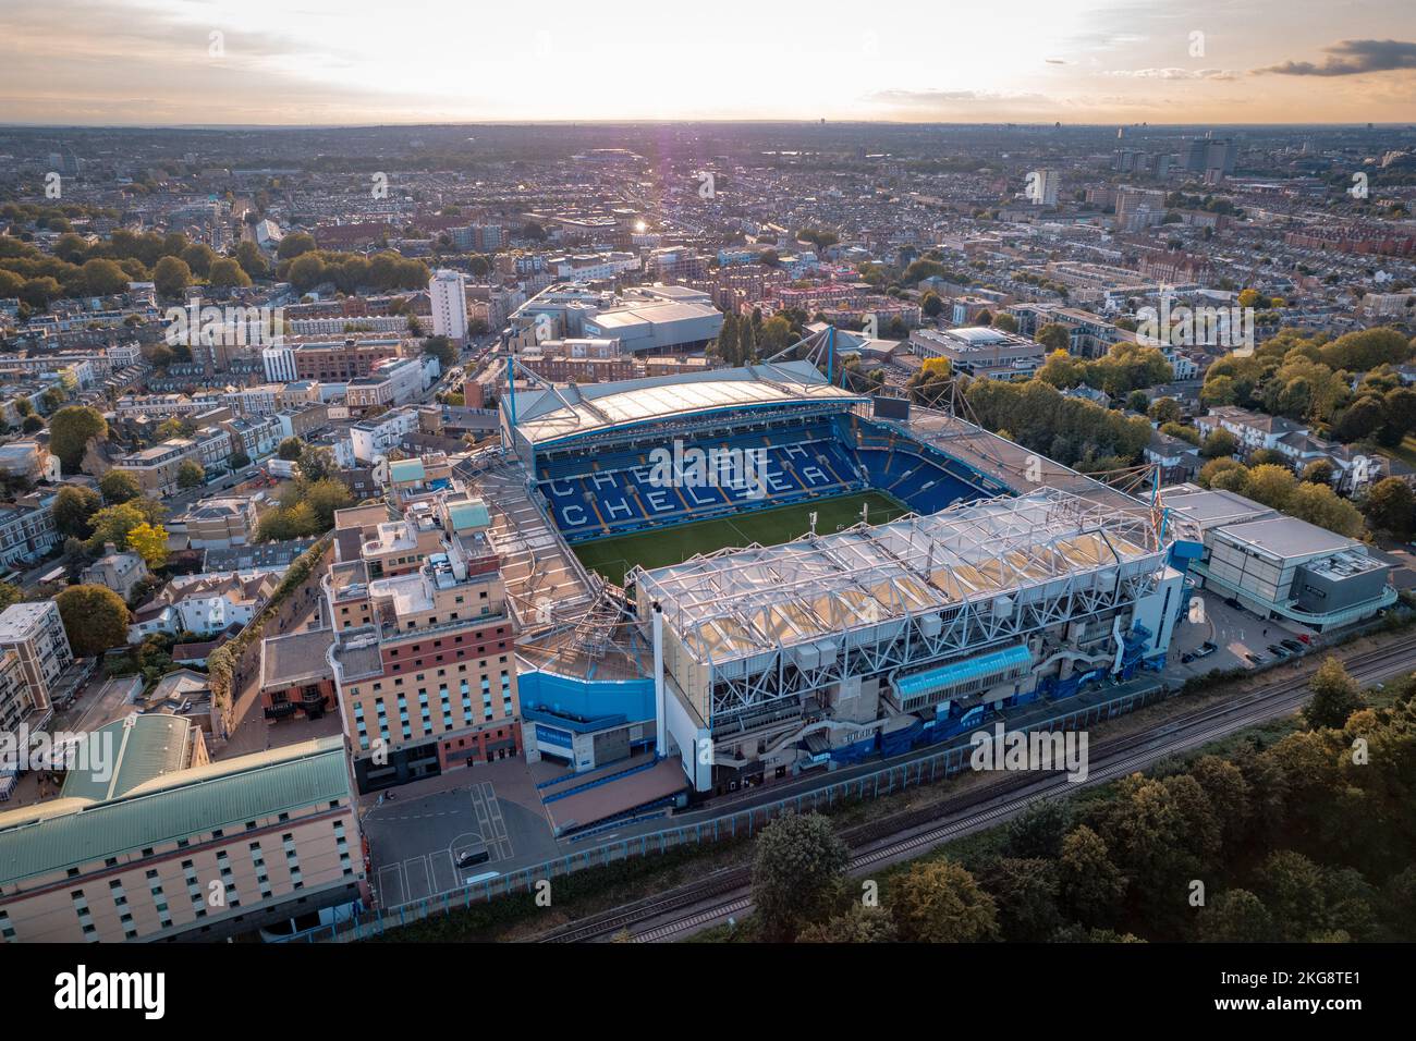
[[[0,0],[6,123],[818,118],[1410,122],[1416,0]]]

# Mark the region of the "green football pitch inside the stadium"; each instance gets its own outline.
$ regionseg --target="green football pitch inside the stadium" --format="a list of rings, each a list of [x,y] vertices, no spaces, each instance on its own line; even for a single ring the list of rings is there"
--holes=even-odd
[[[850,496],[779,506],[773,510],[748,510],[731,517],[636,531],[593,542],[576,542],[572,548],[586,568],[600,572],[616,585],[624,585],[624,572],[636,564],[643,568],[663,568],[668,564],[681,564],[694,554],[712,552],[729,545],[789,542],[810,531],[813,510],[817,534],[826,535],[838,528],[848,528],[861,520],[861,507],[867,504],[871,524],[882,524],[909,513],[909,507],[881,491],[857,491]]]

